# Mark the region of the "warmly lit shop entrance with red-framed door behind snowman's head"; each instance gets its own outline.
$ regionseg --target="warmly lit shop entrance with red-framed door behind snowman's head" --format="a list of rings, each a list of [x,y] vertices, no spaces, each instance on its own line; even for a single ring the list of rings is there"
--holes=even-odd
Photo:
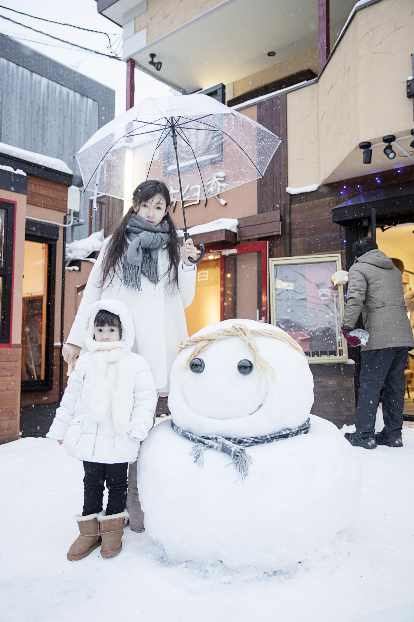
[[[197,264],[188,334],[232,318],[268,322],[268,243],[207,249]]]

